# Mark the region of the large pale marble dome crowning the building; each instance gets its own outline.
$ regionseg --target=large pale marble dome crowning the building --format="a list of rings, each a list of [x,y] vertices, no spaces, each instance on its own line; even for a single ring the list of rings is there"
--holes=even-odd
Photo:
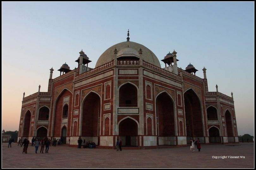
[[[157,67],[161,67],[159,60],[157,59],[157,57],[151,50],[149,50],[147,47],[145,47],[139,43],[132,42],[132,41],[120,42],[118,44],[113,45],[112,47],[109,47],[105,52],[103,52],[101,54],[95,67],[101,66],[105,63],[112,61],[115,58],[115,54],[114,54],[115,48],[118,51],[117,58],[119,58],[120,55],[122,55],[123,58],[125,56],[129,57],[130,52],[131,52],[131,56],[139,57],[138,52],[141,49],[142,50],[142,54],[141,54],[142,60],[149,62],[151,64],[154,64]]]

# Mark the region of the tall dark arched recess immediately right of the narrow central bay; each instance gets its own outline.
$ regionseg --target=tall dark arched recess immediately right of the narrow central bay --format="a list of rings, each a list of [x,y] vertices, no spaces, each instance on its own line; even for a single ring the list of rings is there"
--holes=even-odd
[[[174,143],[174,104],[166,92],[156,98],[156,117],[158,120],[158,145],[176,145]]]

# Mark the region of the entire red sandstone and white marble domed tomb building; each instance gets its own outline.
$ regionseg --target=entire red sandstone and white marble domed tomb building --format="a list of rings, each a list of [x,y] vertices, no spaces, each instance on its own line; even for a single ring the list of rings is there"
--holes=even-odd
[[[127,47],[128,46],[128,47]],[[112,52],[112,53],[111,53]],[[157,60],[157,61],[156,61]],[[23,95],[18,138],[48,137],[77,145],[80,136],[101,147],[138,148],[186,145],[191,137],[202,143],[238,142],[232,97],[209,92],[191,64],[177,67],[176,52],[160,68],[155,54],[131,41],[116,44],[94,69],[81,51],[78,68],[52,79],[48,92]],[[172,63],[174,63],[172,65]],[[85,66],[87,64],[87,66]]]

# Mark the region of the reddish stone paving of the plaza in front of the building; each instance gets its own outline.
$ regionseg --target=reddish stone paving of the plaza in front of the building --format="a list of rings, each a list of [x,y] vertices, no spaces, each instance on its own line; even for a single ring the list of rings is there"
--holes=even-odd
[[[229,145],[229,146],[227,146]],[[254,168],[254,143],[227,145],[201,144],[201,152],[190,147],[131,150],[78,149],[50,146],[49,153],[35,154],[29,146],[2,144],[2,168]],[[235,146],[230,146],[235,145]],[[214,159],[212,156],[239,156]],[[245,158],[240,158],[244,156]]]

